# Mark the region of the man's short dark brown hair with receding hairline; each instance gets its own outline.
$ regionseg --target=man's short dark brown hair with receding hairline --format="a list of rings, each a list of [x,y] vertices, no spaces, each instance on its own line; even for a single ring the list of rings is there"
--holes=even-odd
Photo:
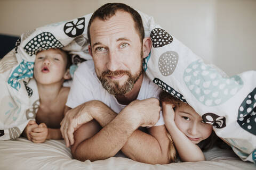
[[[115,15],[116,11],[125,11],[131,14],[133,21],[134,21],[134,27],[135,30],[138,32],[138,35],[140,36],[140,41],[142,43],[145,34],[144,34],[144,27],[143,27],[143,23],[142,23],[142,19],[140,14],[134,10],[132,7],[126,5],[126,4],[122,4],[122,3],[107,3],[105,5],[102,5],[100,8],[98,8],[98,10],[96,10],[92,16],[91,19],[89,21],[88,27],[87,27],[87,36],[89,39],[89,42],[91,44],[91,36],[90,36],[90,27],[92,24],[92,21],[95,18],[99,18],[101,20],[107,20],[109,18],[111,18],[113,15]]]

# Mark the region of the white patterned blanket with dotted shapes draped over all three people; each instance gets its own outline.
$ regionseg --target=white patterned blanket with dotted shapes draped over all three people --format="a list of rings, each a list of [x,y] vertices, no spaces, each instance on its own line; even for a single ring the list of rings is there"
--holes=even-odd
[[[143,62],[148,77],[195,108],[241,159],[255,163],[256,72],[223,77],[151,16],[140,14],[145,36],[153,42]],[[33,68],[38,51],[63,48],[74,54],[74,63],[91,58],[87,49],[90,17],[88,14],[23,33],[15,50],[0,61],[0,140],[16,139],[27,122],[35,118],[39,101]]]

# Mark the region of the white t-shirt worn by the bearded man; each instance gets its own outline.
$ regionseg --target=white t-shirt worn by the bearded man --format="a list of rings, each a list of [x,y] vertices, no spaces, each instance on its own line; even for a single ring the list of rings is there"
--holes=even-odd
[[[143,100],[150,97],[158,98],[161,90],[161,88],[149,80],[147,75],[144,74],[137,99]],[[109,92],[102,87],[95,73],[92,60],[81,63],[75,71],[66,105],[74,108],[90,100],[102,101],[116,113],[121,112],[126,106],[119,104],[115,96],[109,94]],[[155,126],[163,124],[164,120],[161,112],[160,118]]]

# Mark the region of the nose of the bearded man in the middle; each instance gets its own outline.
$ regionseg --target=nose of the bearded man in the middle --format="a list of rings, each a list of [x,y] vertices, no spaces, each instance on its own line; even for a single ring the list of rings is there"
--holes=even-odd
[[[107,69],[110,71],[116,71],[120,69],[121,62],[119,60],[119,56],[115,51],[109,50],[108,52],[108,61],[107,61]]]

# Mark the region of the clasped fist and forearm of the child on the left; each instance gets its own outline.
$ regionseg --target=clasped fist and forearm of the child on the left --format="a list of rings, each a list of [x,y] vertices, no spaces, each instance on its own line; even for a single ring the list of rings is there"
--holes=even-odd
[[[30,132],[31,141],[35,143],[43,143],[48,139],[62,139],[60,129],[47,128],[45,123],[38,125],[38,128]]]

